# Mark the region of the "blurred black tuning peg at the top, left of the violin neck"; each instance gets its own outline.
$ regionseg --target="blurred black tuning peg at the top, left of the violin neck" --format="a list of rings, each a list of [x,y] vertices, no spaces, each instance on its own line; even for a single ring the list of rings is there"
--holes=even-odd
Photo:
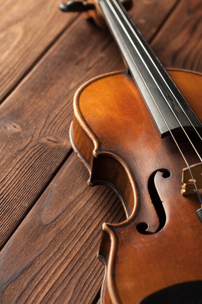
[[[81,1],[67,1],[59,5],[62,12],[87,12],[88,10],[94,10],[93,3],[81,2]]]

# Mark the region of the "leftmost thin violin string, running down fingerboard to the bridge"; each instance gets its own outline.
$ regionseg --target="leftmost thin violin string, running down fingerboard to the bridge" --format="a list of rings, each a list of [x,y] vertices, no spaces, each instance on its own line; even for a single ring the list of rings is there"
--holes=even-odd
[[[109,4],[110,4],[110,2],[109,2]],[[111,6],[111,7],[112,7],[112,6]],[[112,7],[112,9],[113,9],[113,7]],[[117,15],[117,14],[116,14],[116,15]],[[118,15],[117,15],[117,17],[118,17]],[[118,18],[119,18],[119,17],[118,17]],[[120,18],[119,18],[119,20],[120,20]],[[121,21],[121,20],[120,20],[120,21]],[[122,23],[122,24],[123,24],[123,23]],[[123,25],[124,25],[124,24],[123,24]],[[122,41],[123,41],[123,40],[122,40]],[[140,73],[140,70],[138,69],[138,67],[137,67],[137,65],[136,65],[136,63],[135,63],[135,61],[134,61],[134,59],[133,59],[133,57],[132,57],[132,55],[131,55],[131,53],[130,53],[130,51],[128,50],[128,48],[127,48],[126,45],[125,45],[125,48],[126,48],[126,50],[127,50],[127,52],[128,52],[128,55],[130,56],[131,60],[133,61],[133,63],[135,64],[137,70],[138,70],[139,73]],[[151,95],[153,101],[155,102],[155,99],[154,99],[154,97],[152,96],[152,94],[151,94],[151,92],[150,92],[150,90],[149,90],[147,84],[145,83],[145,81],[144,81],[144,79],[143,79],[141,73],[140,73],[140,77],[141,77],[142,81],[144,82],[145,86],[147,87],[147,90],[148,90],[149,94]],[[163,114],[161,113],[161,111],[160,111],[158,105],[156,104],[156,102],[155,102],[155,105],[156,105],[156,107],[157,107],[157,109],[158,109],[158,111],[159,111],[161,117],[163,118],[163,120],[164,120],[164,122],[165,122],[165,124],[166,124],[166,126],[167,126],[167,128],[168,128],[168,130],[169,130],[169,132],[171,133],[171,136],[172,136],[172,138],[173,138],[173,140],[174,140],[174,142],[175,142],[175,144],[176,144],[178,150],[180,151],[180,153],[181,153],[181,155],[182,155],[182,157],[183,157],[183,159],[184,159],[184,161],[185,161],[185,163],[186,163],[186,166],[187,166],[187,168],[188,168],[188,170],[189,170],[189,173],[190,173],[190,176],[191,176],[191,178],[192,178],[192,181],[193,181],[193,184],[194,184],[194,187],[195,187],[197,196],[198,196],[198,198],[199,198],[200,203],[202,204],[202,198],[201,198],[201,196],[200,196],[200,192],[199,192],[199,190],[198,190],[198,188],[197,188],[197,186],[196,186],[195,179],[194,179],[193,174],[192,174],[192,172],[191,172],[191,168],[190,168],[190,166],[189,166],[189,164],[188,164],[188,162],[187,162],[187,160],[186,160],[186,157],[185,157],[184,153],[182,152],[182,150],[180,149],[180,147],[179,147],[179,145],[178,145],[178,143],[177,143],[177,141],[176,141],[174,135],[173,135],[172,132],[171,132],[171,129],[170,129],[168,123],[166,122],[166,119],[164,118]]]

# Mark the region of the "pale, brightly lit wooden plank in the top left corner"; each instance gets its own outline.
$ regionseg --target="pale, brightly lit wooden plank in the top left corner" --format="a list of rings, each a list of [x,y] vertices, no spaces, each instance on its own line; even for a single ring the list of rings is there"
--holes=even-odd
[[[60,2],[0,1],[0,101],[77,16],[61,14]]]

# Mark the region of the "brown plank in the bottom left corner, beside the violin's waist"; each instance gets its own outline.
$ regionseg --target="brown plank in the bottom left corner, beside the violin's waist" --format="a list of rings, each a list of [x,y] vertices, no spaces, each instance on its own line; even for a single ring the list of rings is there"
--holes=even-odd
[[[4,246],[1,303],[93,302],[104,275],[101,225],[124,212],[112,190],[84,183],[88,175],[72,154]]]

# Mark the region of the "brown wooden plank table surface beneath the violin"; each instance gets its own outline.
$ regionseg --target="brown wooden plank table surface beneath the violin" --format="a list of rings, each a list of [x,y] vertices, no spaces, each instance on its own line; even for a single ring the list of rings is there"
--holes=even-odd
[[[124,219],[72,152],[78,86],[124,67],[112,37],[59,0],[0,0],[1,303],[93,304],[101,224]],[[202,0],[136,0],[131,16],[164,66],[202,72]]]

